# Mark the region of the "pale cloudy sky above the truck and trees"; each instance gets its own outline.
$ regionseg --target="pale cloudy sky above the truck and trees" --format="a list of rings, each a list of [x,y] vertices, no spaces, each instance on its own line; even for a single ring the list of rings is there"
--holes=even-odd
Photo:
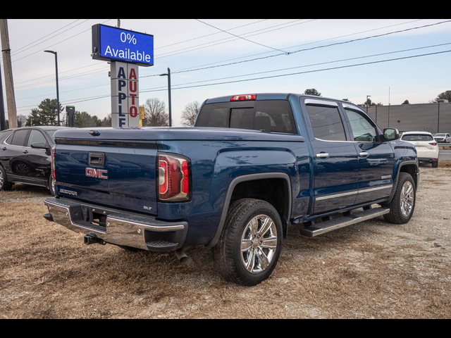
[[[111,92],[109,64],[91,57],[91,27],[117,20],[8,19],[18,115],[56,99],[49,49],[58,52],[63,106],[111,113],[111,99],[98,97]],[[140,68],[140,104],[167,104],[167,77],[149,75],[171,68],[175,126],[187,104],[216,96],[315,88],[354,104],[370,95],[396,105],[451,90],[451,19],[121,19],[121,28],[154,35],[155,65]],[[423,54],[434,55],[409,58]],[[394,58],[402,59],[378,62]],[[362,63],[370,64],[347,67]]]

